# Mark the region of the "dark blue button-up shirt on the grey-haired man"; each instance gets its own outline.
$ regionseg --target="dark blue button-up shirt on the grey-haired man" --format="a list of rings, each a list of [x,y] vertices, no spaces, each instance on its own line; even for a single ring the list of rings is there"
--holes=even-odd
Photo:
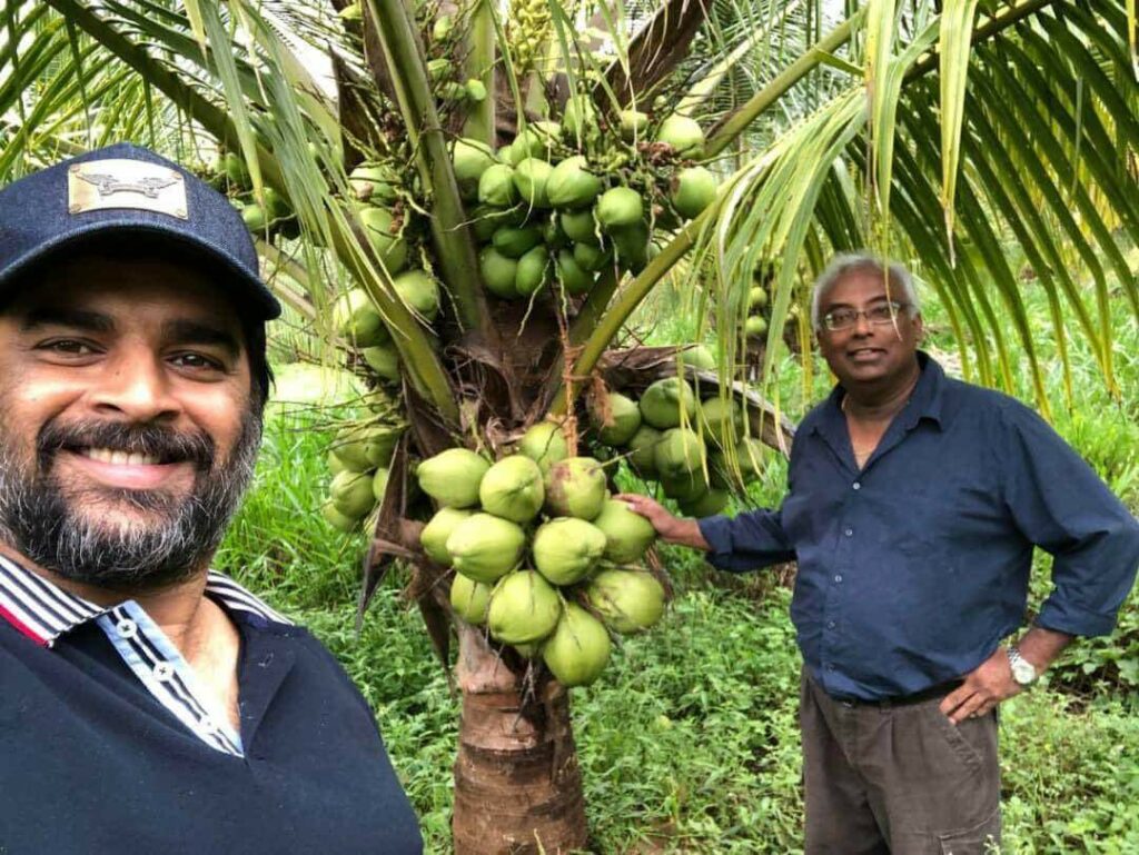
[[[1033,544],[1055,557],[1036,624],[1072,635],[1112,631],[1139,565],[1136,518],[1039,416],[918,359],[861,469],[837,386],[795,435],[779,510],[699,520],[716,567],[798,561],[792,619],[835,697],[973,671],[1024,619]]]

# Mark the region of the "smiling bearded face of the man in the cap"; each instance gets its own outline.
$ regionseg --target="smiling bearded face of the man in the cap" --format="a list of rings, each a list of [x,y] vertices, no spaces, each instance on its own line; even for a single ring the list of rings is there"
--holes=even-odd
[[[260,439],[233,306],[200,273],[99,255],[0,312],[0,540],[106,587],[200,569]]]

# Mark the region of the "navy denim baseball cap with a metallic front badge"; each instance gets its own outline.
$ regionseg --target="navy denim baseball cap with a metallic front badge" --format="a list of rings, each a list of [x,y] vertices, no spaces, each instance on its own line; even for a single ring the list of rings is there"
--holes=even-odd
[[[261,321],[281,313],[261,281],[249,230],[229,200],[177,163],[129,142],[0,189],[0,294],[36,262],[128,235],[200,252],[232,274],[227,285],[239,289],[243,312]]]

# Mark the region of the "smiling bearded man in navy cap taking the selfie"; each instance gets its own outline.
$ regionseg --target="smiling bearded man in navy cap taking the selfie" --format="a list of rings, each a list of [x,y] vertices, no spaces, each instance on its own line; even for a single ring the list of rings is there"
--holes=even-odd
[[[0,852],[421,852],[341,667],[210,570],[279,312],[146,149],[0,190]]]

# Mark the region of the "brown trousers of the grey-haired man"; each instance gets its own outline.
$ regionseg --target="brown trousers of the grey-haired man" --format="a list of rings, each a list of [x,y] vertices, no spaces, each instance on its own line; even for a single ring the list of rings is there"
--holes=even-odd
[[[954,726],[939,704],[838,701],[804,668],[805,855],[998,852],[995,712]]]

